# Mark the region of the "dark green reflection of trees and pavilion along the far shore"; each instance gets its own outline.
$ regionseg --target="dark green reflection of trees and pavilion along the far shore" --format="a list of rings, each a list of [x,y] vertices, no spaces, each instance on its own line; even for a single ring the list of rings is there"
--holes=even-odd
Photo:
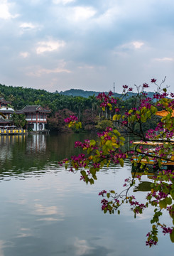
[[[41,172],[50,164],[57,166],[60,159],[78,153],[79,149],[74,148],[75,141],[84,140],[87,136],[87,134],[0,136],[0,175]],[[94,135],[90,136],[94,137]]]

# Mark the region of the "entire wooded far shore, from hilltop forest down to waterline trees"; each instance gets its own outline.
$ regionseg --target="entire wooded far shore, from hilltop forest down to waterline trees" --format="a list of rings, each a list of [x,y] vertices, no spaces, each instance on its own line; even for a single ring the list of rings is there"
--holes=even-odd
[[[51,110],[48,117],[48,128],[59,132],[67,130],[65,128],[64,119],[75,114],[82,122],[82,128],[86,130],[104,129],[111,126],[110,120],[104,120],[112,116],[109,111],[103,112],[99,107],[99,102],[96,95],[99,92],[89,92],[83,90],[70,90],[71,95],[64,95],[63,92],[48,92],[46,90],[36,90],[33,88],[13,87],[0,84],[0,97],[11,101],[11,105],[15,110],[21,110],[26,105],[41,105]],[[66,94],[66,93],[65,93]],[[152,92],[148,95],[151,96]],[[82,97],[80,95],[85,95]],[[119,104],[126,110],[132,107],[132,93],[127,94],[126,99],[122,99],[121,95],[114,94],[114,97],[119,97]],[[103,117],[103,119],[102,119]],[[156,121],[155,121],[156,122]],[[151,124],[153,125],[153,124]],[[138,129],[137,127],[135,127]],[[146,127],[148,129],[148,127]]]

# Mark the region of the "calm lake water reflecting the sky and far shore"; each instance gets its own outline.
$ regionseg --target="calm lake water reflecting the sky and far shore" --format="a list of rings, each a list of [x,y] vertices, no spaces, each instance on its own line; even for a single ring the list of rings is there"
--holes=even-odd
[[[92,135],[90,135],[92,138]],[[58,166],[76,140],[87,134],[0,137],[0,256],[173,255],[168,235],[146,247],[152,209],[134,219],[129,206],[121,215],[104,214],[99,191],[121,191],[131,165],[104,168],[94,185]],[[150,181],[143,176],[143,181]],[[143,201],[146,192],[134,193]],[[163,216],[170,224],[168,216]]]

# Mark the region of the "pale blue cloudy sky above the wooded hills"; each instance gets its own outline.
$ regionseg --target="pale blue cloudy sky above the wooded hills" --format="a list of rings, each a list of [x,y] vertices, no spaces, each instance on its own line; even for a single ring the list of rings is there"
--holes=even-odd
[[[174,92],[173,0],[0,0],[0,46],[3,85]]]

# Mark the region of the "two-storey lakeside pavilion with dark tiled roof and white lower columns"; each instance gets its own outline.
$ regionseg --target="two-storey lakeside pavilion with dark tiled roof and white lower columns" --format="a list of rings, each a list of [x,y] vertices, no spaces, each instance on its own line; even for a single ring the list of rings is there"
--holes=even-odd
[[[33,131],[43,131],[47,123],[47,114],[50,110],[45,110],[40,105],[27,105],[23,110],[17,110],[18,114],[26,114],[26,128]]]

